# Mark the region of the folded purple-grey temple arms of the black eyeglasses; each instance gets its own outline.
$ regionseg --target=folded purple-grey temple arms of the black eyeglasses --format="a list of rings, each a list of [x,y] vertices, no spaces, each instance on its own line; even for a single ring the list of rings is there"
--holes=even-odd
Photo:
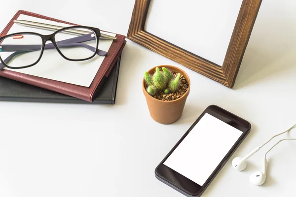
[[[96,51],[95,47],[89,46],[87,44],[83,44],[81,42],[86,42],[86,41],[90,41],[90,40],[94,40],[95,37],[91,37],[90,34],[87,35],[81,35],[78,37],[74,37],[74,38],[69,38],[66,40],[61,40],[57,42],[58,47],[75,47],[75,46],[81,46],[84,48],[87,48],[93,52]],[[14,45],[14,44],[4,44],[4,45],[0,45],[2,48],[2,51],[5,52],[30,52],[30,51],[37,51],[40,50],[40,45]],[[49,44],[45,44],[44,49],[53,49],[55,48],[53,43],[49,43]],[[18,53],[19,54],[19,53]],[[18,55],[16,54],[16,55]],[[99,56],[106,56],[107,52],[106,51],[102,51],[100,49],[97,50],[97,54]]]

